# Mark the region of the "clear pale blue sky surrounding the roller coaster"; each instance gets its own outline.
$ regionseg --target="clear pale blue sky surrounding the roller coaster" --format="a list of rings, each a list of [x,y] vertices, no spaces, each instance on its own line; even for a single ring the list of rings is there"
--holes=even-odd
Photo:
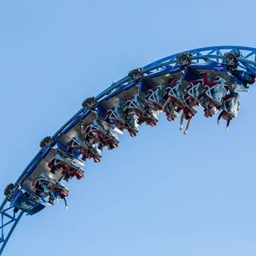
[[[202,46],[255,46],[254,1],[0,2],[0,198],[52,135],[131,69]],[[69,210],[24,216],[3,255],[256,254],[255,94],[226,132],[204,118],[124,134],[72,180]]]

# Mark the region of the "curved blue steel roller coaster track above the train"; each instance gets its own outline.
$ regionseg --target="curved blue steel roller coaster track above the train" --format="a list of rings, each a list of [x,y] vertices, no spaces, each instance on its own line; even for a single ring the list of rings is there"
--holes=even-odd
[[[239,62],[239,69],[246,70],[250,74],[256,77],[256,48],[246,47],[246,46],[209,46],[194,50],[186,50],[184,52],[170,55],[166,58],[162,58],[156,62],[152,62],[149,65],[142,67],[142,74],[144,76],[154,74],[159,70],[163,70],[168,66],[175,66],[178,62],[178,56],[181,54],[190,53],[190,60],[195,64],[202,63],[222,63],[222,59],[224,58],[224,54],[230,51],[239,51],[241,55],[237,58]],[[130,82],[130,76],[126,76],[119,80],[118,82],[114,82],[111,86],[109,86],[106,90],[102,91],[101,94],[98,94],[95,99],[97,102],[101,102],[108,95],[114,93],[115,90],[120,89],[121,86],[126,85]],[[245,89],[246,91],[247,89]],[[71,127],[74,126],[79,118],[86,113],[84,107],[81,110],[78,110],[76,114],[70,120],[68,120],[51,138],[54,142],[58,142],[58,138],[62,134],[65,134],[70,130]],[[14,183],[14,186],[18,186],[18,184],[26,178],[29,174],[31,168],[33,168],[38,163],[38,158],[42,158],[42,154],[45,154],[44,149],[39,150],[38,154],[34,156],[34,158],[30,161],[28,166],[26,166],[25,170],[22,171],[22,174],[18,177],[17,181]],[[1,212],[1,223],[0,223],[0,254],[4,250],[6,243],[9,241],[11,234],[13,233],[15,227],[17,226],[19,220],[22,218],[24,212],[19,210],[18,212],[14,212],[14,206],[11,206],[8,201],[8,196],[3,200],[0,206]]]

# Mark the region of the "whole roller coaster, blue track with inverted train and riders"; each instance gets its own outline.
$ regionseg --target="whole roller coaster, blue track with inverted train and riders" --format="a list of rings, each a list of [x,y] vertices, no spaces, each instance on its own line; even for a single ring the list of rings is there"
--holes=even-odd
[[[6,186],[0,206],[0,254],[23,214],[32,215],[62,199],[67,207],[69,189],[62,184],[84,176],[86,161],[100,162],[102,149],[113,150],[118,135],[131,137],[143,123],[155,126],[159,114],[169,122],[181,115],[187,134],[202,106],[206,118],[218,114],[226,129],[239,111],[240,92],[256,78],[256,48],[210,46],[170,55],[129,74],[96,97],[86,98],[53,136],[42,139],[17,181]],[[91,159],[91,160],[89,160]]]

